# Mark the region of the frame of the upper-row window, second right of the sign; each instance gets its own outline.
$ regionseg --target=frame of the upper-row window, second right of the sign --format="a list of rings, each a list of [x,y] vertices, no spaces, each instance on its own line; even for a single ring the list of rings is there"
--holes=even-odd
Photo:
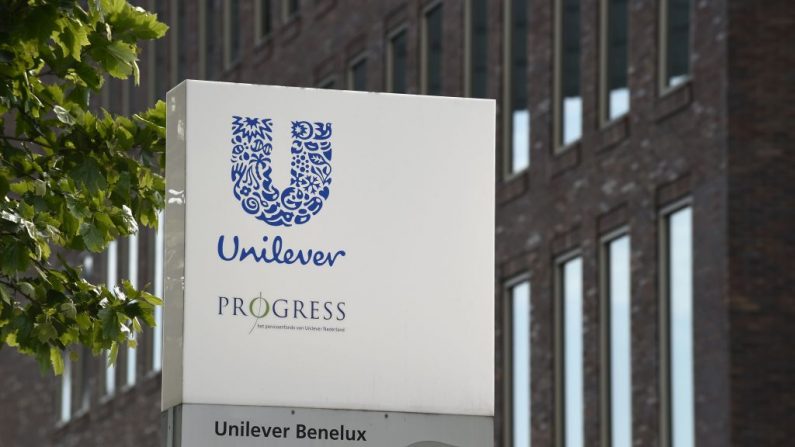
[[[553,20],[554,20],[554,31],[553,31],[553,76],[552,76],[552,147],[553,147],[553,154],[560,155],[574,146],[577,146],[580,141],[582,141],[584,133],[585,133],[585,109],[581,106],[580,108],[580,135],[577,139],[565,142],[565,108],[563,107],[563,17],[564,17],[564,2],[565,0],[553,0],[554,1],[554,11],[553,11]],[[583,57],[583,44],[582,44],[582,24],[583,24],[583,10],[582,10],[582,0],[578,0],[580,2],[579,8],[579,20],[580,20],[580,101],[583,101],[583,82],[582,82],[582,57]]]

